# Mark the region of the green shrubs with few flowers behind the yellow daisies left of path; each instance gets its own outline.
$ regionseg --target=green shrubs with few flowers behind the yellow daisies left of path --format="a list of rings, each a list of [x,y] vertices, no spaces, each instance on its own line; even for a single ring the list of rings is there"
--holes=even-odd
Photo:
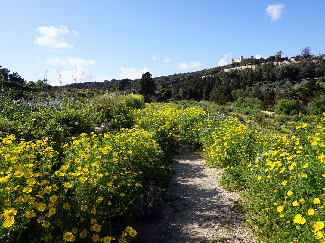
[[[0,136],[16,134],[18,138],[50,137],[57,141],[81,132],[91,132],[91,123],[111,122],[112,128],[130,128],[130,110],[144,106],[140,95],[87,96],[84,104],[79,99],[35,99],[11,101],[2,97],[0,107]]]

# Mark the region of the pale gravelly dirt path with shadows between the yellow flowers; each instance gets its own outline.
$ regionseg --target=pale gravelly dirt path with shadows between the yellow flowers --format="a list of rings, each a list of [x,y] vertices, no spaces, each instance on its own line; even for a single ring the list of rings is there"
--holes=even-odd
[[[139,243],[257,242],[243,229],[238,195],[219,185],[220,169],[207,167],[186,146],[175,155],[172,185],[161,212],[136,223]]]

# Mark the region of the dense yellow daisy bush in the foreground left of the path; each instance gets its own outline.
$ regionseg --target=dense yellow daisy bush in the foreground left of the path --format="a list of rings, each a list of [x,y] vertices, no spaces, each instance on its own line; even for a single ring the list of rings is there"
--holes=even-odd
[[[159,205],[171,168],[153,134],[122,130],[103,134],[100,142],[95,134],[81,135],[63,145],[63,153],[47,137],[1,138],[7,158],[2,160],[7,173],[0,176],[3,241],[62,240],[70,232],[77,242],[90,242],[81,232],[92,235],[96,224],[101,237],[117,237],[131,217]],[[19,151],[13,155],[13,149]],[[10,210],[12,218],[6,215]]]

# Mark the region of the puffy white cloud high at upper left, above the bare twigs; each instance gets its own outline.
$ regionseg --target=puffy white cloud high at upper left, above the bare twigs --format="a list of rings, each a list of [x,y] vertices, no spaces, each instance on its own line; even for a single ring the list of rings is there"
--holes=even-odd
[[[37,30],[41,36],[34,40],[35,45],[49,46],[53,48],[73,47],[73,44],[64,42],[64,38],[61,37],[62,35],[69,33],[69,30],[66,26],[60,25],[59,28],[56,28],[53,25],[50,27],[43,26],[38,27]]]

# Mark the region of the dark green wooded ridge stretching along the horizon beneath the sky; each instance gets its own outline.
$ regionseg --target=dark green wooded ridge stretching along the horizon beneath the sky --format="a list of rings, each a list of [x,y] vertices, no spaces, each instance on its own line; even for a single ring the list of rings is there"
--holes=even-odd
[[[325,55],[312,56],[310,50],[307,50],[306,54],[302,52],[293,61],[293,58],[282,58],[281,53],[266,59],[248,59],[209,70],[152,78],[156,92],[148,101],[206,100],[218,105],[227,105],[230,102],[237,106],[273,111],[282,100],[282,104],[291,106],[295,112],[310,113],[308,109],[311,108],[308,106],[315,105],[325,109]],[[243,69],[224,71],[236,67]],[[7,89],[7,92],[11,90],[17,99],[25,94],[43,92],[51,96],[60,90],[69,92],[79,89],[141,93],[138,85],[140,79],[113,79],[52,87],[45,78],[36,83],[27,83],[17,72],[10,74],[8,69],[1,66],[0,72],[1,87]]]

